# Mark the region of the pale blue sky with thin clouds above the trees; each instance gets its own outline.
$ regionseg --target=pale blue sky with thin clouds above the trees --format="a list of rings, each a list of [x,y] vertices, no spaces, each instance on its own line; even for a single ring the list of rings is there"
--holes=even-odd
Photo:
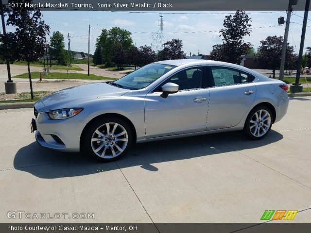
[[[286,8],[286,7],[285,7]],[[245,42],[251,42],[255,49],[260,45],[260,40],[264,40],[269,35],[284,36],[285,24],[277,25],[277,18],[283,16],[286,20],[285,11],[274,11],[258,13],[259,11],[246,11],[252,18],[252,32],[250,36],[245,36]],[[183,41],[183,50],[187,55],[200,53],[209,54],[212,46],[221,43],[219,30],[223,27],[226,14],[234,12],[218,11],[188,11],[188,12],[163,12],[178,14],[163,14],[164,19],[164,42],[173,38]],[[188,14],[185,14],[188,13]],[[193,15],[190,13],[194,13]],[[199,15],[196,13],[211,13],[212,15]],[[215,15],[217,13],[217,15]],[[291,17],[290,32],[288,42],[294,46],[294,50],[299,51],[301,29],[303,22],[303,11],[294,11]],[[300,17],[299,17],[300,16]],[[309,12],[309,18],[311,14]],[[160,14],[125,13],[125,12],[104,12],[104,11],[43,11],[43,19],[51,27],[51,34],[60,31],[65,35],[67,47],[67,34],[70,33],[71,50],[87,52],[88,25],[90,24],[90,53],[94,53],[96,38],[103,28],[121,27],[132,33],[132,38],[136,46],[152,46],[157,49],[155,35],[159,30]],[[304,47],[311,47],[311,20],[308,20],[310,27],[307,27]],[[300,25],[301,24],[301,25]],[[265,27],[265,28],[260,28]],[[7,28],[7,31],[12,31]],[[202,31],[215,31],[203,32]],[[49,37],[48,37],[49,40]]]

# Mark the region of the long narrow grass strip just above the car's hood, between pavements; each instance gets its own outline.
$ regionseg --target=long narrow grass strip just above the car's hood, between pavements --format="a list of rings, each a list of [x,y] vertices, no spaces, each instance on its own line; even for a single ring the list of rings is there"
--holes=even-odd
[[[31,72],[32,79],[38,79],[40,72]],[[19,74],[13,78],[28,79],[28,73]],[[103,76],[98,76],[94,74],[77,74],[77,73],[49,73],[48,76],[42,76],[42,79],[90,79],[90,80],[115,80],[114,78],[108,78]]]

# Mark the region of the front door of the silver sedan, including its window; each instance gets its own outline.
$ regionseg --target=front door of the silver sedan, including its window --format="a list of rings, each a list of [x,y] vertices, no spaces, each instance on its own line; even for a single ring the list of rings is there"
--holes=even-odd
[[[193,133],[207,129],[208,88],[204,87],[203,67],[179,71],[146,95],[145,128],[147,138]],[[162,98],[160,88],[176,83],[177,93]]]

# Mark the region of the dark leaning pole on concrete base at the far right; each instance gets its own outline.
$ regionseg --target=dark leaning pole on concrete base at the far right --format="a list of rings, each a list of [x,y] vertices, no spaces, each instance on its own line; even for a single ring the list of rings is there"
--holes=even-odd
[[[290,91],[292,91],[292,92],[302,92],[302,88],[303,88],[301,83],[299,83],[299,79],[300,79],[300,69],[301,69],[301,63],[302,63],[303,47],[304,47],[305,36],[306,36],[306,28],[307,28],[309,6],[310,6],[310,0],[306,0],[305,14],[304,14],[303,23],[302,23],[302,32],[301,32],[301,40],[300,40],[300,49],[299,49],[299,57],[298,57],[298,64],[297,64],[297,72],[296,72],[296,81],[290,87]]]

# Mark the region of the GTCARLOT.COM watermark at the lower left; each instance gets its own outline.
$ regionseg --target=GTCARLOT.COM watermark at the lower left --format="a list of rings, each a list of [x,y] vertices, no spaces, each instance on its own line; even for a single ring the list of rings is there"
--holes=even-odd
[[[10,219],[94,219],[94,213],[29,213],[25,211],[9,211]]]

